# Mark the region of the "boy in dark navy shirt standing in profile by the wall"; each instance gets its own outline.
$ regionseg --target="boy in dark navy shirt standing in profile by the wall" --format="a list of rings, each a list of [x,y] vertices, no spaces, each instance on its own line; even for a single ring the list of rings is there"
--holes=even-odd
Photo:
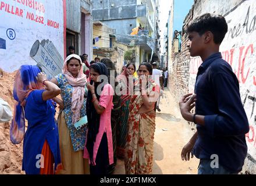
[[[222,59],[219,46],[227,33],[224,17],[206,13],[187,28],[191,56],[200,56],[195,94],[179,102],[185,120],[197,124],[197,132],[182,150],[182,159],[200,159],[198,174],[237,174],[247,155],[249,131],[241,103],[239,81]],[[190,110],[195,106],[195,113]]]

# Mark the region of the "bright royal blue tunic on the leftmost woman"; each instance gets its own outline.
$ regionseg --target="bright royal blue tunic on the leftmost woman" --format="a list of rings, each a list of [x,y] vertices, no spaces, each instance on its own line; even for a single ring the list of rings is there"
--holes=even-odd
[[[24,108],[28,127],[23,142],[22,170],[25,170],[26,174],[40,174],[41,167],[38,164],[45,140],[54,156],[55,169],[61,163],[58,127],[54,118],[55,108],[51,100],[42,100],[42,92],[44,90],[32,91]]]

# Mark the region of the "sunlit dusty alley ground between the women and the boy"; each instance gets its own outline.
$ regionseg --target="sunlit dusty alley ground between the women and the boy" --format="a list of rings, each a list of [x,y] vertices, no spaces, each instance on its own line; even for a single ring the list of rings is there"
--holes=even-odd
[[[161,112],[157,111],[156,117],[152,174],[197,174],[199,160],[194,157],[186,162],[180,157],[183,146],[194,131],[180,115],[179,105],[167,88],[159,108]],[[118,159],[113,174],[125,174],[123,160]]]

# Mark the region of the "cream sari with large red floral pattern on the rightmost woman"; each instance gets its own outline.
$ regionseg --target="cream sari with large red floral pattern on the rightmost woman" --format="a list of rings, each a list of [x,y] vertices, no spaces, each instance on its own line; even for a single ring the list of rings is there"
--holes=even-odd
[[[149,85],[155,91],[154,83]],[[143,105],[141,92],[131,96],[125,153],[126,174],[151,174],[155,133],[155,112],[138,113]]]

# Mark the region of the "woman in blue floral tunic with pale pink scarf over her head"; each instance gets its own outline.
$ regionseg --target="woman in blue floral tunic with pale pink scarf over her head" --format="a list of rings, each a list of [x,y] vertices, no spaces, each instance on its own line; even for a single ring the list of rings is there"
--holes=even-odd
[[[77,130],[74,123],[86,116],[86,74],[79,55],[67,56],[62,73],[52,78],[52,83],[61,88],[61,106],[58,117],[59,144],[63,169],[59,174],[88,174],[88,160],[83,158],[87,138],[87,126]]]

